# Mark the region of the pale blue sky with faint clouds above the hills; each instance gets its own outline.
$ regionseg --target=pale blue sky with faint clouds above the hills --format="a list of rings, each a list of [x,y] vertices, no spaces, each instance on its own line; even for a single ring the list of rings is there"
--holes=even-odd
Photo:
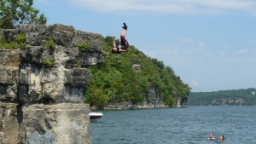
[[[192,92],[256,86],[254,0],[34,0],[48,18],[76,30],[126,39],[171,66]]]

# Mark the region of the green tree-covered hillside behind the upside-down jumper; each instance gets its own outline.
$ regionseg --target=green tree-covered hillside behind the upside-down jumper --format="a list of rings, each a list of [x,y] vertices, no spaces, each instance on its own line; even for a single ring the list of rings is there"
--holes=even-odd
[[[148,100],[150,87],[156,88],[170,107],[179,98],[187,101],[189,85],[183,84],[171,66],[165,66],[163,61],[144,55],[132,45],[129,52],[112,54],[113,37],[102,38],[105,63],[89,68],[92,78],[86,91],[86,102],[90,106],[102,108],[109,103],[124,101],[137,103],[143,101],[144,97]],[[140,63],[141,70],[132,68],[134,63]]]

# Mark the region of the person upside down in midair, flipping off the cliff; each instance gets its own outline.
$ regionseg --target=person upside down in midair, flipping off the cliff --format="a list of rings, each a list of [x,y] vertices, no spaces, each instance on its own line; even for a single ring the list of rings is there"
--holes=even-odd
[[[122,52],[127,52],[129,51],[128,50],[128,47],[129,47],[129,43],[128,41],[125,39],[125,35],[126,35],[126,32],[127,32],[127,28],[128,26],[126,26],[125,23],[123,23],[124,26],[122,27],[123,28],[123,31],[120,35],[120,39],[121,39],[121,43],[116,46],[115,45],[115,37],[113,38],[113,49],[112,49],[112,53],[114,54],[121,54]]]

